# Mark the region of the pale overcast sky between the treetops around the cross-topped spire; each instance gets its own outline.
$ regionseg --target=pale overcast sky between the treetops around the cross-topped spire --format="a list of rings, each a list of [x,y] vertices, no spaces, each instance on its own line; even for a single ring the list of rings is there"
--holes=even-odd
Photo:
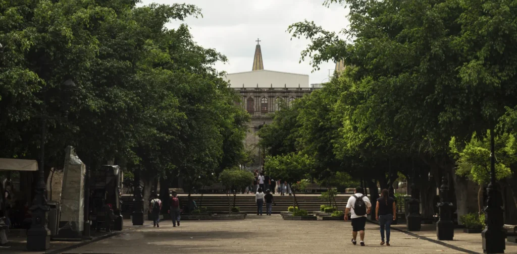
[[[251,71],[257,38],[260,38],[264,69],[308,74],[310,83],[326,82],[329,62],[320,71],[311,73],[309,60],[299,63],[300,52],[308,44],[305,39],[293,39],[287,27],[295,22],[314,21],[327,30],[339,32],[348,25],[343,6],[322,6],[324,0],[143,0],[143,5],[187,3],[202,9],[203,18],[188,18],[194,40],[204,47],[214,48],[226,55],[229,63],[216,67],[229,73]],[[181,22],[173,21],[169,28]]]

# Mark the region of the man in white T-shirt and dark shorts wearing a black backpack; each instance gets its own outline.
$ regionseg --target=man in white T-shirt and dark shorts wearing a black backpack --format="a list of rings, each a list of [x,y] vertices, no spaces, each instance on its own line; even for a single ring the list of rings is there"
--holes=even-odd
[[[345,209],[345,220],[348,220],[348,212],[351,212],[352,216],[352,244],[357,244],[357,232],[361,237],[361,246],[364,246],[364,226],[366,225],[367,214],[370,214],[372,209],[372,203],[367,196],[363,195],[363,188],[356,187],[354,195],[348,198]]]

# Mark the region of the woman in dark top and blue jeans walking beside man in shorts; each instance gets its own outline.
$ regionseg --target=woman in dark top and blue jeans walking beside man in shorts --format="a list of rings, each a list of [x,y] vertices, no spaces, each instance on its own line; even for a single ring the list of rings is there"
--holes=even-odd
[[[375,219],[379,221],[381,226],[381,245],[384,244],[384,230],[386,230],[386,246],[389,245],[389,235],[391,231],[391,222],[397,218],[397,207],[395,200],[389,196],[387,189],[383,189],[381,197],[377,199],[375,207]]]

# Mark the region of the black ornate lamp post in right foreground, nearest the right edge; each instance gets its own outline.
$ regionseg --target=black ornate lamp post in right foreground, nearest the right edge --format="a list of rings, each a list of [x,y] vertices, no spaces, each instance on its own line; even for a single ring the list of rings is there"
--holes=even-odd
[[[505,253],[506,231],[503,229],[501,194],[495,181],[494,130],[490,130],[490,183],[485,208],[486,228],[481,232],[484,253]]]

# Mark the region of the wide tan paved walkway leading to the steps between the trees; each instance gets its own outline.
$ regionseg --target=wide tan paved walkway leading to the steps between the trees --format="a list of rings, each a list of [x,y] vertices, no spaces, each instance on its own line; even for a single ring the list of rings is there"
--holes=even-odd
[[[378,226],[371,223],[367,223],[367,246],[354,246],[350,231],[350,223],[344,221],[283,220],[279,215],[186,220],[176,228],[164,221],[160,228],[130,228],[121,235],[64,253],[463,253],[395,230],[391,246],[380,246]],[[436,239],[432,232],[422,234]],[[476,235],[458,233],[458,240],[451,244],[482,252],[480,235]],[[475,238],[477,243],[472,240]],[[508,244],[506,253],[517,253],[517,245]]]

